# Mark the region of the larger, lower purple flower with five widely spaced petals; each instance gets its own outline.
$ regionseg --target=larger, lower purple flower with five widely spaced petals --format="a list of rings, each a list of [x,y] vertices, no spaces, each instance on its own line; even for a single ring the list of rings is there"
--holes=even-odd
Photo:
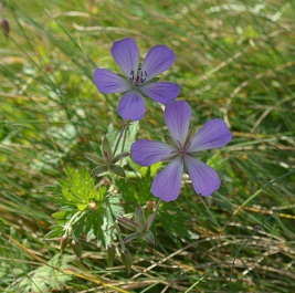
[[[181,188],[183,170],[189,174],[197,193],[209,197],[220,187],[218,174],[200,159],[198,151],[225,146],[232,134],[221,119],[211,119],[194,134],[189,130],[191,109],[186,101],[167,105],[164,117],[171,137],[168,144],[138,140],[131,145],[133,159],[141,166],[161,160],[170,161],[154,179],[151,192],[165,201],[176,200]]]

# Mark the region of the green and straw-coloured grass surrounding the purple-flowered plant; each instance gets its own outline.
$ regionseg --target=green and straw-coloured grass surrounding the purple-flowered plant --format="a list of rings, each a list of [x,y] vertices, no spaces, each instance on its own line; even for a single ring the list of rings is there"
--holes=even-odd
[[[294,12],[293,0],[7,1],[0,291],[292,292]],[[66,168],[91,170],[83,153],[99,148],[110,123],[119,129],[119,96],[101,94],[92,74],[97,66],[118,72],[109,49],[125,36],[136,39],[143,56],[159,43],[172,49],[177,60],[165,79],[181,85],[192,123],[219,117],[234,136],[204,156],[221,176],[220,190],[206,199],[186,185],[177,201],[162,205],[157,245],[129,245],[130,274],[118,259],[108,266],[92,241],[82,239],[77,260],[71,249],[60,253],[61,236],[45,238]],[[161,139],[161,109],[146,103],[137,138]],[[146,200],[138,197],[129,196],[131,208]]]

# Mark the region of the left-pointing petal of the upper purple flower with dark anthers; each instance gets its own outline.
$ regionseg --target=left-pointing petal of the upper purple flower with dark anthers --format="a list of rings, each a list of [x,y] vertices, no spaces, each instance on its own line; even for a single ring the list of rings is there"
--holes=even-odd
[[[131,84],[109,70],[98,69],[94,72],[94,82],[104,94],[126,92]]]

